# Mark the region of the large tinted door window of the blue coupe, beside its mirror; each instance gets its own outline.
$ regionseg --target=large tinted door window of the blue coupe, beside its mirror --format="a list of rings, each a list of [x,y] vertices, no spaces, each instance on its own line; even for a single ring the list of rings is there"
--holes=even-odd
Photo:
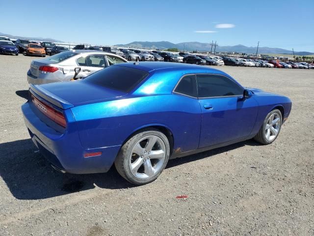
[[[198,97],[242,95],[243,89],[222,75],[197,75]]]

